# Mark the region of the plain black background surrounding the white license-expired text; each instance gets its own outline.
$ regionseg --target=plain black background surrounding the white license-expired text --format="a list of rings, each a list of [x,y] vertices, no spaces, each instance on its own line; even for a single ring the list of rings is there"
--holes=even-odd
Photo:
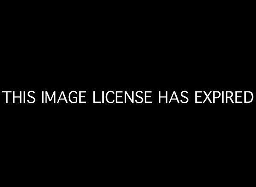
[[[152,90],[154,104],[2,102],[5,176],[131,184],[250,178],[255,101],[196,105],[193,96],[255,94],[247,7],[42,7],[3,13],[1,91]],[[183,90],[187,105],[157,104],[157,91]]]

